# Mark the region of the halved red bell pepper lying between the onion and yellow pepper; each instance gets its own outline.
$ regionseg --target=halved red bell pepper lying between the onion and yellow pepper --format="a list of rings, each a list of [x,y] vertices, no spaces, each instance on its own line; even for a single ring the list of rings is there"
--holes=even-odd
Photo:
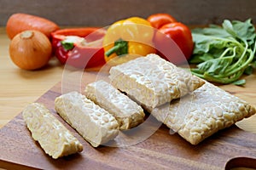
[[[55,56],[61,64],[91,68],[105,64],[102,39],[106,31],[97,27],[67,28],[51,33]]]

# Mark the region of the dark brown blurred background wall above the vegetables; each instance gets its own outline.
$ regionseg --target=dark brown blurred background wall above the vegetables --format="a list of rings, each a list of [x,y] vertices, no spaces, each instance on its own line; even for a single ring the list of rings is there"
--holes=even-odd
[[[224,19],[256,24],[255,0],[0,0],[0,26],[9,16],[42,16],[59,26],[109,26],[130,16],[172,14],[187,25],[220,24]]]

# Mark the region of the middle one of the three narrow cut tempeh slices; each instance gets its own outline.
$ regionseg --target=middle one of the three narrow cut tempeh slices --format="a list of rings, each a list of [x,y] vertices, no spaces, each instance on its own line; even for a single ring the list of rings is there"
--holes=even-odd
[[[116,119],[78,92],[57,97],[55,110],[94,147],[107,143],[119,133]]]

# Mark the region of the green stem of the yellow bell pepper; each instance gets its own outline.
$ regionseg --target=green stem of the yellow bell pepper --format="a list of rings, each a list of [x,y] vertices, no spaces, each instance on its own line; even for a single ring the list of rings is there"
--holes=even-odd
[[[128,54],[128,42],[120,38],[119,40],[114,42],[113,48],[108,49],[105,55],[109,57],[111,54],[114,53],[117,55]]]

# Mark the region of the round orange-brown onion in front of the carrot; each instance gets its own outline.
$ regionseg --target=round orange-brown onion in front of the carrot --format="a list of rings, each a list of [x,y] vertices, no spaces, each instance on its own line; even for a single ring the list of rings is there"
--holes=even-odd
[[[10,58],[24,70],[42,68],[49,62],[51,54],[49,38],[40,31],[22,31],[9,44]]]

